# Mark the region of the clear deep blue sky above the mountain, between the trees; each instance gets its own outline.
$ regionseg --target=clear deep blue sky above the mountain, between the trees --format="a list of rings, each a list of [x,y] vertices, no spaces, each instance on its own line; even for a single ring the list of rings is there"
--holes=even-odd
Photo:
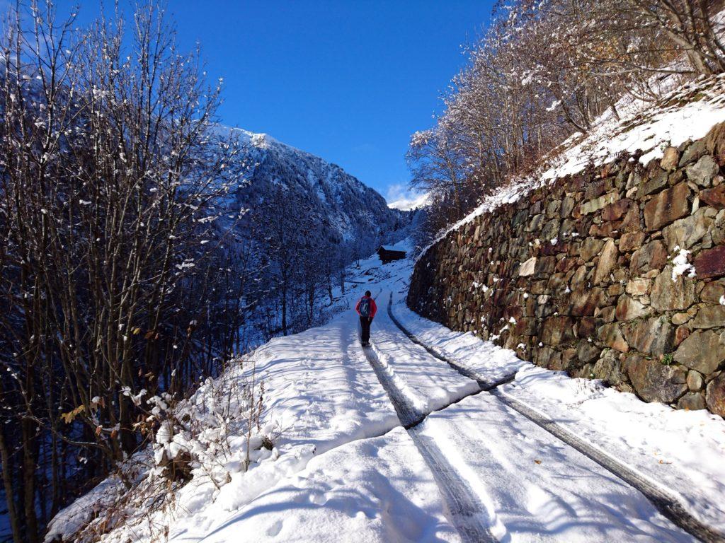
[[[61,12],[75,4],[58,2]],[[80,22],[99,5],[80,0]],[[465,62],[461,46],[480,35],[492,1],[169,0],[167,7],[181,46],[199,41],[210,76],[224,77],[225,124],[322,156],[394,197],[410,177],[410,134],[431,126]]]

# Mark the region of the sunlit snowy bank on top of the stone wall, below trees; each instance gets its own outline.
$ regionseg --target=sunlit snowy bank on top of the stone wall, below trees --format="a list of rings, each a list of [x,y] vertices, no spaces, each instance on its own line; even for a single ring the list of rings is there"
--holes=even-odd
[[[623,99],[618,106],[620,119],[607,111],[589,134],[572,135],[537,172],[515,177],[508,185],[494,190],[479,207],[441,232],[418,258],[449,232],[477,216],[518,201],[560,177],[579,173],[588,166],[602,166],[620,153],[643,151],[639,162],[646,165],[661,159],[668,146],[705,137],[713,126],[725,122],[725,74],[699,77],[656,103]]]

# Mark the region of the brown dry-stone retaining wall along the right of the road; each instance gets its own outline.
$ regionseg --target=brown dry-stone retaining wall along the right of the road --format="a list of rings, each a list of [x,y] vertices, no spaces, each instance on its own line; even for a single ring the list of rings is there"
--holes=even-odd
[[[539,366],[725,416],[725,125],[632,158],[449,232],[408,305]]]

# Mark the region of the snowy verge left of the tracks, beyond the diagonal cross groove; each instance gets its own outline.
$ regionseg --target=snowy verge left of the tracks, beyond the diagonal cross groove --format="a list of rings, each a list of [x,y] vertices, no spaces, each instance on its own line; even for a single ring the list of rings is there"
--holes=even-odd
[[[225,439],[219,439],[215,450],[194,468],[186,486],[174,489],[167,507],[151,509],[140,502],[125,503],[123,493],[119,495],[123,487],[109,478],[59,513],[51,522],[46,541],[71,539],[101,510],[122,507],[123,517],[115,515],[115,520],[123,518],[123,522],[102,541],[152,541],[166,532],[170,541],[202,539],[220,519],[303,470],[315,455],[397,426],[397,416],[383,388],[363,354],[350,348],[353,344],[357,344],[355,330],[342,326],[338,319],[327,328],[272,340],[247,358],[244,367],[231,368],[215,382],[208,380],[189,401],[207,401],[206,416],[215,421],[209,428],[221,432]],[[247,417],[242,416],[240,424],[235,424],[234,418],[229,424],[225,417],[230,411],[226,405],[231,403],[231,411],[235,411],[234,405],[242,401],[230,392],[232,385],[251,382],[252,372],[257,387],[264,383],[265,395],[260,426],[252,429],[252,463],[244,471],[248,426],[241,423]],[[210,403],[207,392],[219,387],[225,393],[214,395],[216,403]],[[262,438],[272,445],[271,450],[262,447]],[[147,450],[130,462],[142,481],[157,475],[154,463],[149,462],[151,455]],[[100,515],[96,521],[102,518]]]

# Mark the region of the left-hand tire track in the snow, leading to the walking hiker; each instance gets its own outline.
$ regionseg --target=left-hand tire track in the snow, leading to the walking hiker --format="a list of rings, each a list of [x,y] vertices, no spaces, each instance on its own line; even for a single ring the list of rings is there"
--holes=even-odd
[[[460,478],[445,455],[431,439],[424,437],[416,427],[428,413],[421,413],[395,386],[392,376],[372,348],[363,348],[370,366],[373,366],[380,384],[387,392],[400,423],[413,439],[415,447],[431,469],[450,515],[450,521],[465,543],[494,543],[497,539],[486,527],[486,508],[471,487]],[[446,406],[447,407],[447,406]]]

